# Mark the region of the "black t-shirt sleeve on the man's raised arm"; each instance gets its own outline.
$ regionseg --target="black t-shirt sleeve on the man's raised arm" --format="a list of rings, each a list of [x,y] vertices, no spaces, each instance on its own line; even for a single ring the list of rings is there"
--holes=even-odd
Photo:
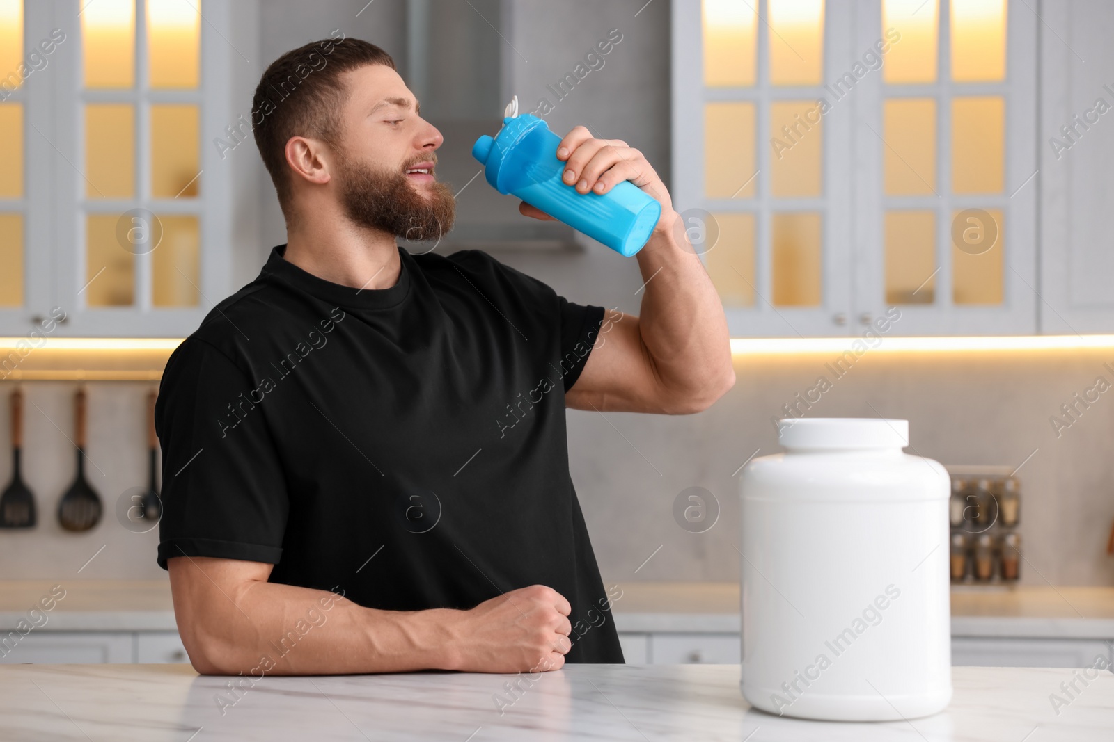
[[[479,275],[490,274],[486,283],[496,297],[508,308],[520,307],[521,310],[515,313],[516,319],[529,323],[520,329],[526,337],[539,325],[550,330],[556,343],[549,349],[548,365],[560,370],[565,392],[571,389],[599,334],[604,307],[569,301],[547,284],[499,263],[482,250],[462,250],[452,257]]]

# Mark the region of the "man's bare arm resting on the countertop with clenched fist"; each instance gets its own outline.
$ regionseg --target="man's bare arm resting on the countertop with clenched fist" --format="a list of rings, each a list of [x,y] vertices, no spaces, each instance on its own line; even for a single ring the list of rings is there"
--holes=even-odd
[[[268,582],[271,565],[169,560],[178,632],[204,674],[262,677],[412,670],[558,670],[568,601],[545,585],[468,610],[380,611],[334,592]]]

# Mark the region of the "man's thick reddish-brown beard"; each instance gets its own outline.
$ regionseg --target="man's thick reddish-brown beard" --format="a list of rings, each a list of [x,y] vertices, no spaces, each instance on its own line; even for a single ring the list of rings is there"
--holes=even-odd
[[[408,240],[439,240],[457,216],[446,184],[411,185],[404,171],[377,170],[343,154],[339,160],[341,206],[349,219]],[[427,189],[422,195],[418,190]]]

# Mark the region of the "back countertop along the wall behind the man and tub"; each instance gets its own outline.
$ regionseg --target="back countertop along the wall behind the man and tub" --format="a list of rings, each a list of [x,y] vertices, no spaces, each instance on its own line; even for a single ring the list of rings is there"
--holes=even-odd
[[[12,631],[52,581],[0,581],[0,631]],[[607,583],[612,584],[612,583]],[[615,602],[624,632],[735,633],[739,583],[625,582]],[[175,631],[167,580],[89,580],[62,584],[66,596],[42,631]],[[1114,587],[976,587],[951,590],[956,636],[1114,640]]]

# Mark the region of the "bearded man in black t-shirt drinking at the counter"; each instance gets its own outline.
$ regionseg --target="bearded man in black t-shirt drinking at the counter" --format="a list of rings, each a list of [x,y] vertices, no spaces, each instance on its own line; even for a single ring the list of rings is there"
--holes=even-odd
[[[561,140],[570,188],[632,180],[663,207],[642,315],[605,323],[483,251],[399,247],[447,234],[456,204],[441,133],[379,47],[283,55],[253,110],[287,241],[175,350],[156,407],[157,558],[194,667],[623,662],[565,408],[690,414],[735,378],[662,180],[625,142]]]

